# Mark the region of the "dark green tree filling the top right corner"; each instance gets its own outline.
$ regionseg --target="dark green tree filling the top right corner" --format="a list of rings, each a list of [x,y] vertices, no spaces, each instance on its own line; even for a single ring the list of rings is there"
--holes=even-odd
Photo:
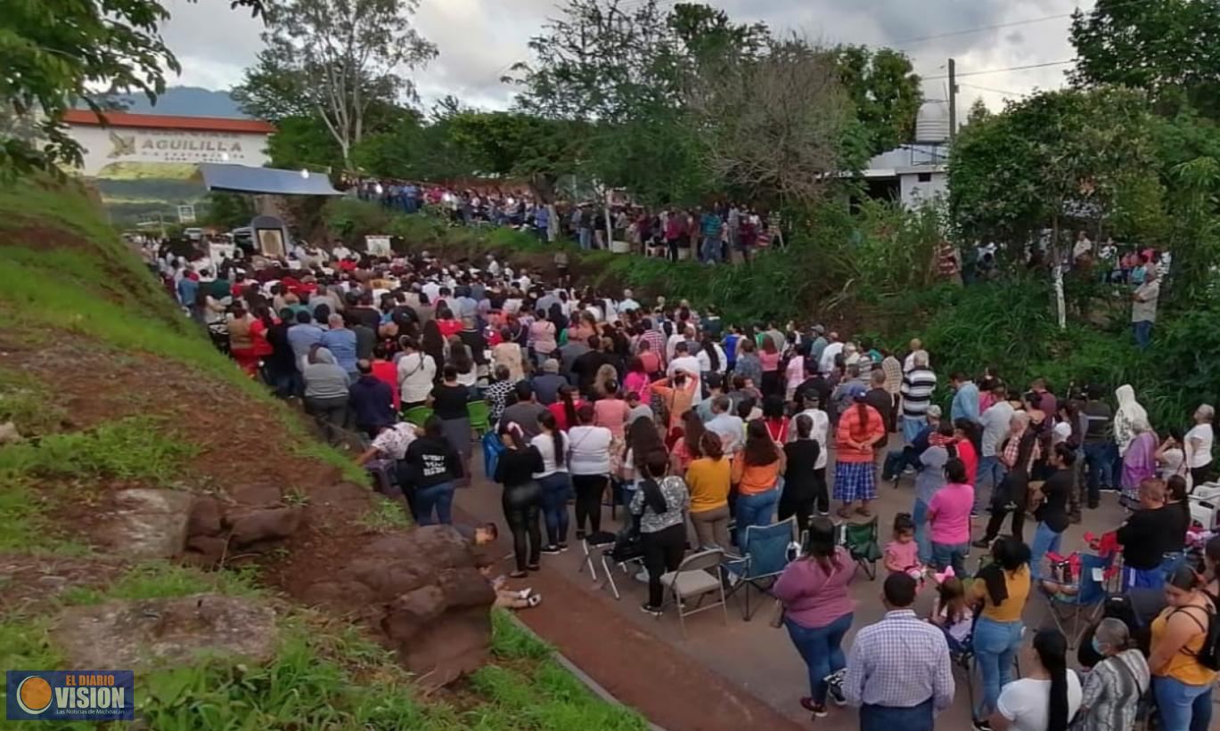
[[[1098,0],[1072,15],[1077,85],[1144,89],[1164,111],[1183,102],[1220,118],[1220,4]]]

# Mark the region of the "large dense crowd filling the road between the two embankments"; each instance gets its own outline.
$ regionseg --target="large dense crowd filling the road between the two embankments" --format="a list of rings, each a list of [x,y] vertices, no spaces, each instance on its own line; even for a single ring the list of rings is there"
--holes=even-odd
[[[612,496],[638,531],[642,609],[656,615],[661,576],[688,545],[734,556],[748,526],[793,518],[802,557],[772,593],[808,664],[814,716],[830,698],[859,707],[863,729],[931,729],[954,696],[952,658],[969,652],[983,688],[976,729],[1128,730],[1149,686],[1161,729],[1209,725],[1220,539],[1192,532],[1190,513],[1190,491],[1213,474],[1209,404],[1188,430],[1158,435],[1128,385],[1111,402],[992,368],[944,379],[919,340],[897,352],[816,324],[728,324],[711,305],[645,306],[492,256],[334,247],[307,267],[255,258],[210,272],[166,256],[156,267],[251,378],[300,400],[328,439],[360,441],[360,463],[421,525],[451,521],[486,407],[512,579],[567,551],[570,531],[600,534]],[[839,526],[871,520],[878,485],[908,473],[911,508],[883,551],[888,612],[844,653],[855,563]],[[1139,644],[1142,627],[1098,624],[1082,679],[1064,636],[1039,631],[1014,680],[1028,598],[1068,590],[1048,557],[1105,490],[1130,508],[1108,532],[1121,591],[1160,598],[1150,632]],[[985,512],[978,535],[971,519]],[[1188,536],[1205,567],[1186,556]],[[987,557],[977,573],[971,546]],[[925,584],[937,602],[921,619],[911,607]]]

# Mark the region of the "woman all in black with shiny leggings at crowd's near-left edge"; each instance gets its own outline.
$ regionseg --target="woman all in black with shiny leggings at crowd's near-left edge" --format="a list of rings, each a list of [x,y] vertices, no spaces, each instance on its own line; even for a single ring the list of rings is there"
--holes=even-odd
[[[538,570],[542,557],[542,528],[538,525],[542,487],[533,479],[533,473],[543,469],[542,454],[526,443],[525,434],[514,422],[501,419],[499,434],[505,450],[495,463],[495,481],[504,485],[504,519],[512,532],[512,553],[517,559],[517,569],[509,576],[521,579],[527,569]]]

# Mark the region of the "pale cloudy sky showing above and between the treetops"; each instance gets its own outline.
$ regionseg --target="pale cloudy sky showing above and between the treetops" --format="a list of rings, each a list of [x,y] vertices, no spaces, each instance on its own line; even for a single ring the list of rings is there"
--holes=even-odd
[[[473,106],[506,107],[511,90],[499,79],[510,65],[528,60],[526,41],[556,15],[558,1],[421,0],[416,26],[440,50],[439,58],[416,73],[425,105],[454,94]],[[660,0],[662,6],[672,4]],[[1069,67],[975,72],[1072,57],[1065,17],[1076,6],[1072,0],[710,0],[710,5],[734,19],[765,21],[773,29],[798,30],[827,44],[900,48],[915,71],[928,78],[924,88],[928,99],[946,97],[946,82],[935,77],[944,74],[946,58],[953,56],[963,74],[963,116],[976,97],[994,110],[1005,96],[1059,88]],[[222,0],[167,0],[167,6],[173,18],[163,33],[183,67],[177,83],[228,89],[239,82],[260,48],[259,21],[229,11]],[[974,32],[993,26],[1004,27]],[[963,30],[971,32],[958,33]],[[926,38],[931,35],[938,38]]]

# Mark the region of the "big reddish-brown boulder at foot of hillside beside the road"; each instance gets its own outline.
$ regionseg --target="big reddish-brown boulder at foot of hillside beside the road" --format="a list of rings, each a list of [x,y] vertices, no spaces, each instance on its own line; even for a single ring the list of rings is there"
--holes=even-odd
[[[443,686],[487,662],[495,592],[470,543],[429,525],[377,539],[306,591],[307,602],[368,607],[365,619],[426,686]]]

